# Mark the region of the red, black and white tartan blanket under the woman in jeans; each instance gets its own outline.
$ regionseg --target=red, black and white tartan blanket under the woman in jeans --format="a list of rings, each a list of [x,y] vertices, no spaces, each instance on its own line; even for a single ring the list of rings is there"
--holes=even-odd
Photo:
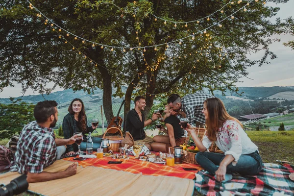
[[[293,165],[265,163],[257,175],[233,174],[231,181],[221,183],[208,172],[199,171],[195,189],[208,196],[294,196],[294,181],[289,178],[293,172]]]

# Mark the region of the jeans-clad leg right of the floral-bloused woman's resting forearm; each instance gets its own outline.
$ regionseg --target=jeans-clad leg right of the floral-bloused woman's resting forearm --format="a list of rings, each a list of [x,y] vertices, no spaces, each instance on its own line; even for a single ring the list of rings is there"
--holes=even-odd
[[[262,167],[256,159],[249,155],[241,155],[237,164],[230,163],[227,166],[227,173],[237,172],[241,175],[255,175]]]

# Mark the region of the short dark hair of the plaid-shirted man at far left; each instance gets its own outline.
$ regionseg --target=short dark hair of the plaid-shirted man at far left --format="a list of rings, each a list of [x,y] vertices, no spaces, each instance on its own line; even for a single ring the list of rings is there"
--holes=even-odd
[[[52,114],[54,115],[57,105],[58,103],[52,100],[38,102],[34,109],[34,117],[37,123],[45,123]]]

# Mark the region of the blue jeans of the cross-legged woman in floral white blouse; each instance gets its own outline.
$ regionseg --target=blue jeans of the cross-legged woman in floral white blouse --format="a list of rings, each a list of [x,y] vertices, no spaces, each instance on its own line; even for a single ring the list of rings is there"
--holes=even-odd
[[[213,152],[197,152],[195,158],[196,161],[200,164],[202,168],[208,172],[215,175],[215,172],[218,170],[218,167],[221,161],[224,159],[225,155],[220,153]],[[255,175],[260,172],[262,169],[262,160],[256,150],[250,154],[241,155],[238,163],[233,166],[230,163],[227,166],[227,173],[237,172],[241,175]]]

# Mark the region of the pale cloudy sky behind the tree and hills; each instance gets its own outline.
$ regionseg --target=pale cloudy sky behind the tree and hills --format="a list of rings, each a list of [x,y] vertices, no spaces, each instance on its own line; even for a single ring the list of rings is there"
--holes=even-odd
[[[276,6],[274,3],[269,3],[269,6]],[[286,19],[290,16],[294,18],[294,0],[289,0],[287,3],[279,3],[280,11],[276,17]],[[272,22],[275,18],[270,19]],[[241,78],[240,83],[237,86],[294,86],[294,50],[283,45],[284,42],[294,40],[292,35],[274,35],[272,38],[280,38],[280,42],[274,42],[270,45],[270,50],[273,51],[278,58],[271,60],[270,64],[264,64],[261,67],[257,65],[247,69],[249,73],[247,77]],[[251,60],[261,59],[263,53],[251,54],[249,58]],[[51,87],[51,86],[49,86]],[[62,91],[62,88],[57,87],[53,92]],[[37,95],[37,92],[33,92],[30,89],[26,91],[27,95]],[[19,97],[23,96],[21,85],[15,84],[15,87],[4,88],[0,92],[0,98]]]

